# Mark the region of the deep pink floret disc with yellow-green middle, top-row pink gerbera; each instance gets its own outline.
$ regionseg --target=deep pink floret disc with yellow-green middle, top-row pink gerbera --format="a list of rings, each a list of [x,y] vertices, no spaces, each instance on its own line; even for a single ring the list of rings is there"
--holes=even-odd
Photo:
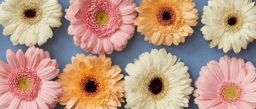
[[[85,23],[96,36],[100,38],[110,36],[121,25],[119,9],[110,0],[95,0],[88,7]]]

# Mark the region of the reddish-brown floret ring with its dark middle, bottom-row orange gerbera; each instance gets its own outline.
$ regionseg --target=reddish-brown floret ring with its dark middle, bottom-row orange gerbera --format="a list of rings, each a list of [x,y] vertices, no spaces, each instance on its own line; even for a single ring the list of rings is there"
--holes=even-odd
[[[79,86],[82,95],[95,97],[100,92],[101,84],[97,78],[87,76],[86,78],[81,79]]]

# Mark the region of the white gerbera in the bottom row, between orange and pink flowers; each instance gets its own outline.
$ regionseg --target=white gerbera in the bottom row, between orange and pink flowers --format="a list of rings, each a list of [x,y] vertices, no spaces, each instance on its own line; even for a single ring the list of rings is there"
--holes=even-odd
[[[189,106],[189,95],[194,90],[192,79],[177,56],[166,50],[143,53],[140,60],[128,64],[125,71],[124,97],[126,109],[183,109]]]

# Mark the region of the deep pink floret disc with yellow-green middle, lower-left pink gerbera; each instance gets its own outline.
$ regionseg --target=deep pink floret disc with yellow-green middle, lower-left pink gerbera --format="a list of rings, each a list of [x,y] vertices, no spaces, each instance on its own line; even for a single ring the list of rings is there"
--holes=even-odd
[[[24,101],[32,101],[41,89],[38,75],[29,69],[17,70],[9,77],[10,92]]]

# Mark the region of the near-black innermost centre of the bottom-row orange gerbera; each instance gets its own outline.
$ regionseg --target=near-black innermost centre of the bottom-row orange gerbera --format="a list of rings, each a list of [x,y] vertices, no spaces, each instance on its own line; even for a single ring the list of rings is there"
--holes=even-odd
[[[99,84],[95,81],[89,80],[87,83],[84,84],[84,91],[88,93],[93,93],[97,91]]]

